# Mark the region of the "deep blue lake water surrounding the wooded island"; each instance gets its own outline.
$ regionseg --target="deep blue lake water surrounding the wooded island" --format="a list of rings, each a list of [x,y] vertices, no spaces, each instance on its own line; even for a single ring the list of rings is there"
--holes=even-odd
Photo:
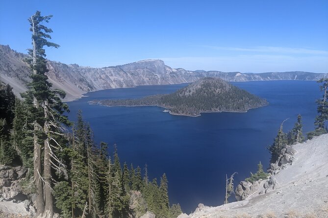
[[[300,113],[303,132],[314,129],[315,100],[320,98],[314,81],[235,82],[235,86],[266,98],[268,106],[246,113],[202,113],[199,117],[176,116],[159,107],[105,107],[88,105],[94,99],[141,98],[151,94],[171,93],[186,86],[141,86],[107,89],[88,93],[69,102],[69,118],[76,120],[78,109],[90,123],[95,141],[107,142],[109,152],[117,144],[121,162],[144,168],[149,177],[166,173],[170,203],[180,203],[185,213],[199,203],[223,204],[226,174],[238,172],[239,181],[255,173],[257,164],[268,167],[273,143],[281,122],[284,131],[293,128]],[[234,197],[231,198],[231,201]]]

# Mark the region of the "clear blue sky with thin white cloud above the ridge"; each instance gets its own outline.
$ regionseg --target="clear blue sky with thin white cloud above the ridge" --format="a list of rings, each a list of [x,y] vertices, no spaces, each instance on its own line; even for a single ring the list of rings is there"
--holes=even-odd
[[[0,44],[26,53],[36,10],[66,64],[328,73],[328,0],[1,0]]]

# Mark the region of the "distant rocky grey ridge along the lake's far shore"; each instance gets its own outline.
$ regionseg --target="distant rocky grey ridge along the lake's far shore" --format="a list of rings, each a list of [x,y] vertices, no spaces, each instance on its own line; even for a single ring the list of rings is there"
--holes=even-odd
[[[27,55],[0,45],[0,80],[10,84],[15,94],[27,89],[30,69],[24,62]],[[65,100],[74,100],[83,93],[108,88],[136,87],[142,85],[166,85],[192,83],[203,77],[219,77],[227,82],[266,80],[319,80],[327,78],[324,73],[268,72],[240,73],[221,71],[190,71],[171,68],[161,60],[143,60],[126,65],[109,67],[85,67],[48,61],[49,81],[53,87],[67,93]]]

